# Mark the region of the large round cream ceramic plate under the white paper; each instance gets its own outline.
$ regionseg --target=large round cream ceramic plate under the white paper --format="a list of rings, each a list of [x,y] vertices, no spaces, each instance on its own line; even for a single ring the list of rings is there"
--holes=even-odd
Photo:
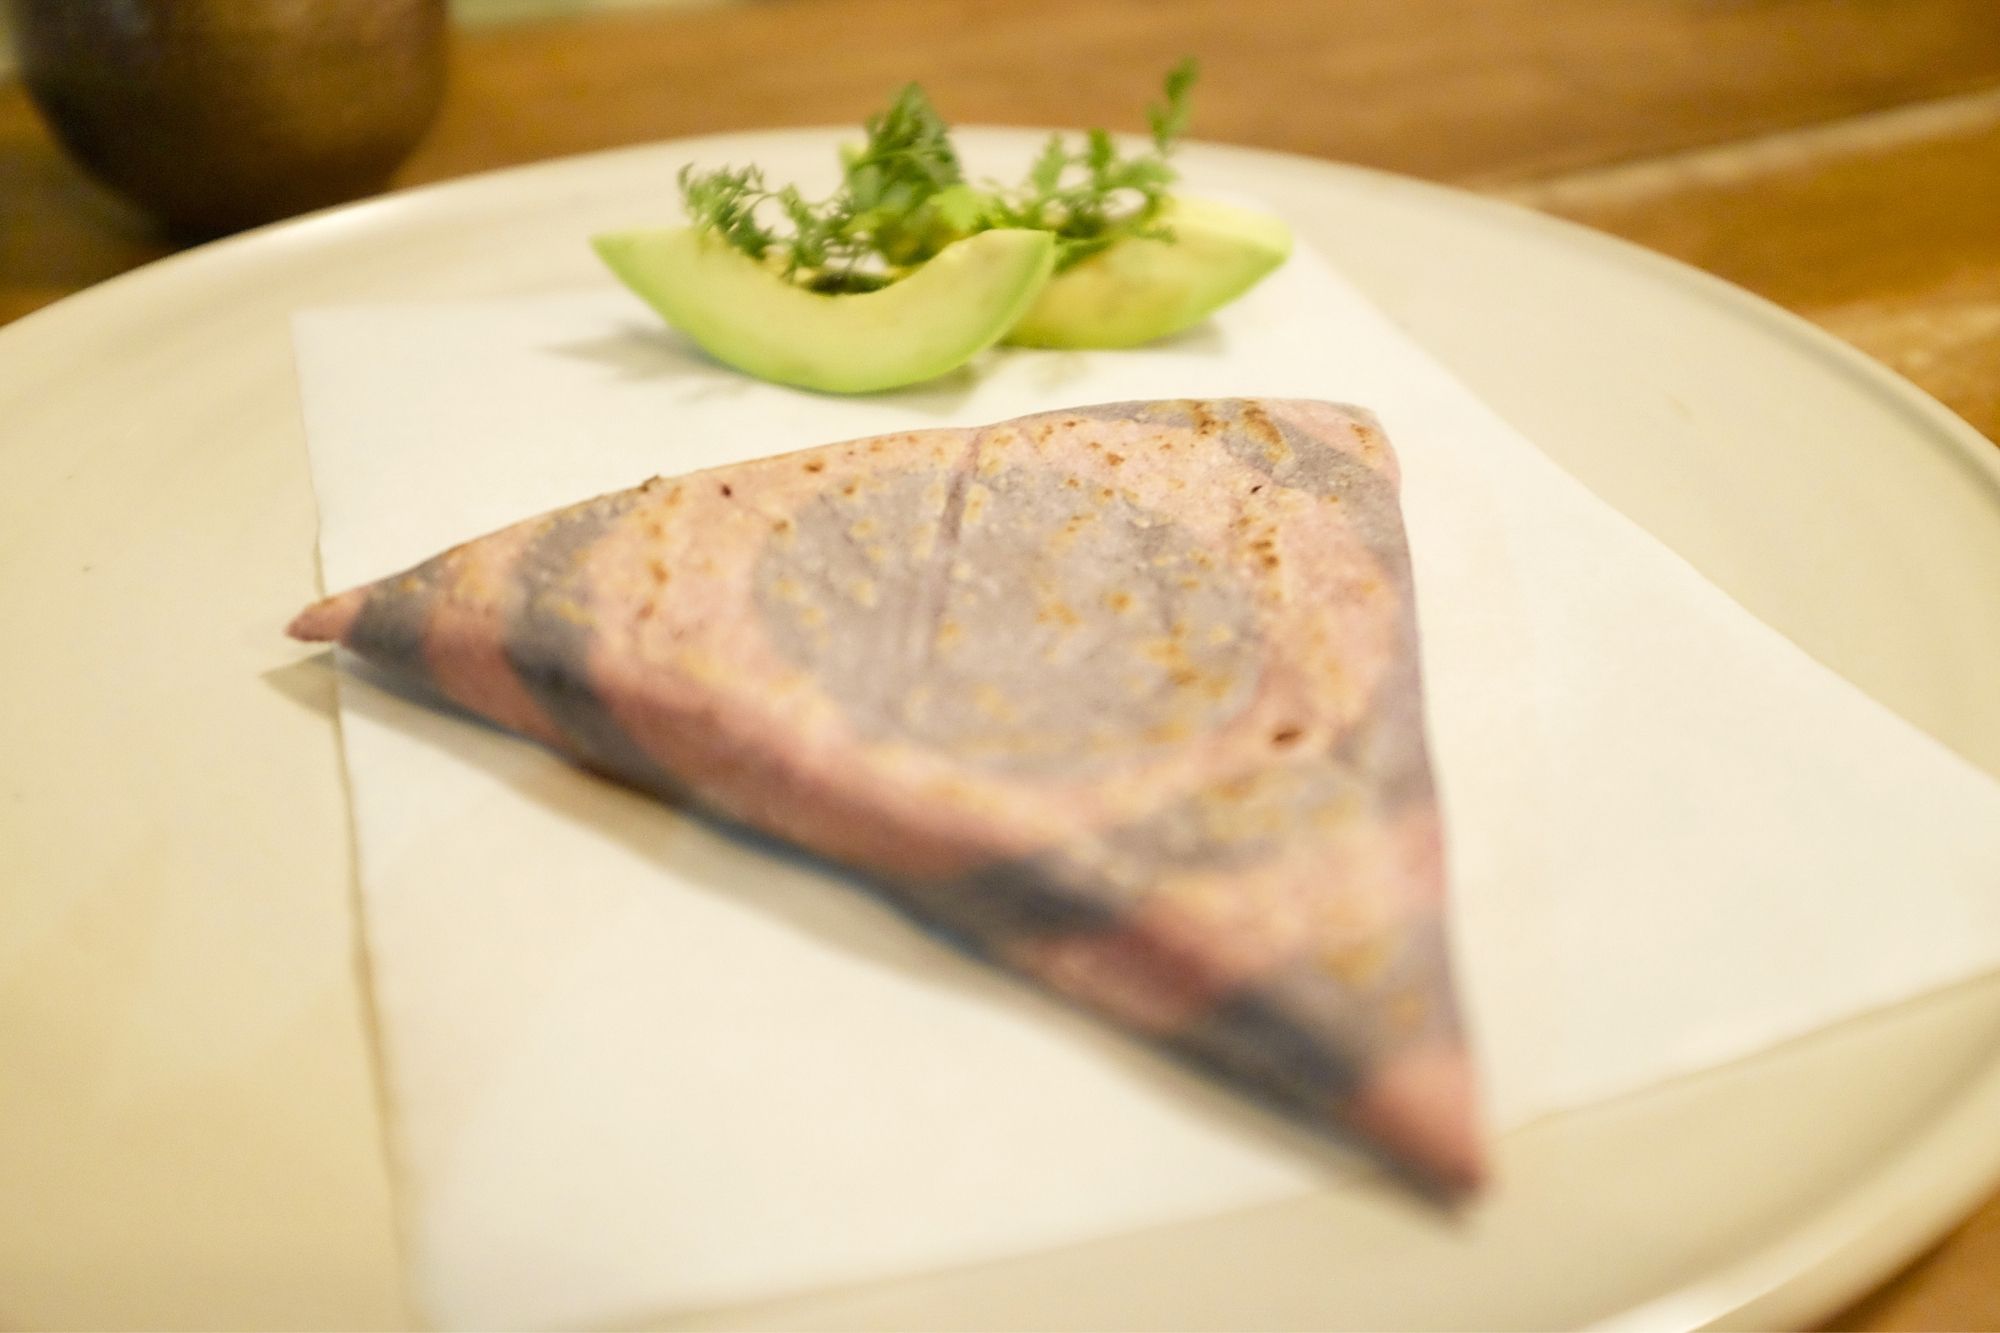
[[[356,955],[294,308],[602,282],[626,150],[208,246],[0,330],[0,1319],[410,1319]],[[988,166],[1034,136],[966,132]],[[1560,222],[1192,148],[1754,612],[2000,773],[2000,454],[1784,312]],[[2000,979],[1510,1135],[1476,1225],[1332,1191],[702,1327],[1808,1321],[2000,1179]]]

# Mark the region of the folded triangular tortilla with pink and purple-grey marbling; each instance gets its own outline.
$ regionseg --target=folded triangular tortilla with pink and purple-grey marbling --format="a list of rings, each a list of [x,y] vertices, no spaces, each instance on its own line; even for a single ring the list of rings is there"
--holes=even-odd
[[[1396,496],[1350,406],[1084,406],[654,478],[292,632],[854,867],[1462,1195],[1482,1143]]]

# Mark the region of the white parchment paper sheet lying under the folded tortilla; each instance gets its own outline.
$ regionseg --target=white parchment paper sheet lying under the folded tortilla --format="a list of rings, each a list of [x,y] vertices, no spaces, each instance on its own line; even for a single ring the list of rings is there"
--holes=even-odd
[[[1600,504],[1312,254],[1166,346],[1000,352],[862,400],[722,370],[608,282],[306,312],[296,338],[328,588],[880,430],[1370,406],[1404,466],[1496,1129],[2000,967],[2000,785]],[[772,1297],[1342,1171],[826,867],[354,675],[342,725],[412,1279],[444,1325]]]

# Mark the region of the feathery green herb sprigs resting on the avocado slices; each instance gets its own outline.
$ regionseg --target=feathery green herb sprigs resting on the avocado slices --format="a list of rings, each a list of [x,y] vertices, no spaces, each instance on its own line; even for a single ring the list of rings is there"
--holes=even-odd
[[[1014,186],[970,184],[950,126],[908,84],[868,118],[862,146],[842,152],[828,198],[774,190],[756,166],[686,166],[682,202],[696,226],[818,292],[876,290],[996,226],[1052,232],[1062,270],[1124,236],[1170,238],[1160,210],[1178,172],[1168,158],[1188,130],[1196,74],[1192,58],[1168,72],[1164,100],[1146,108],[1148,150],[1120,152],[1106,130],[1090,130],[1080,148],[1052,134]]]

